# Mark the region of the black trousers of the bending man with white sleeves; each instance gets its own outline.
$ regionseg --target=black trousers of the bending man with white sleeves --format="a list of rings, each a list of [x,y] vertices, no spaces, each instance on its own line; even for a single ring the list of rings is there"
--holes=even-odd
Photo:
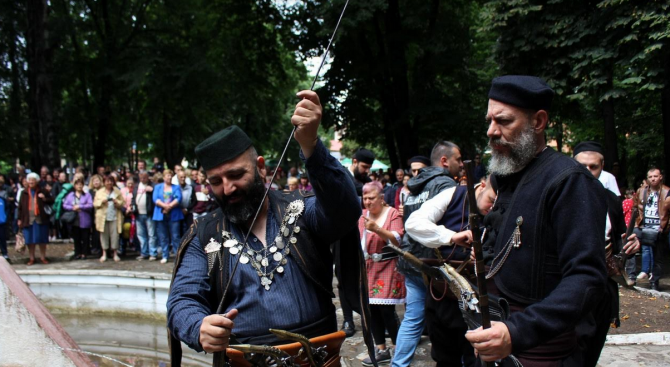
[[[433,345],[430,356],[436,366],[474,366],[475,351],[465,339],[468,326],[463,321],[458,302],[447,298],[435,301],[428,292],[425,315]]]

